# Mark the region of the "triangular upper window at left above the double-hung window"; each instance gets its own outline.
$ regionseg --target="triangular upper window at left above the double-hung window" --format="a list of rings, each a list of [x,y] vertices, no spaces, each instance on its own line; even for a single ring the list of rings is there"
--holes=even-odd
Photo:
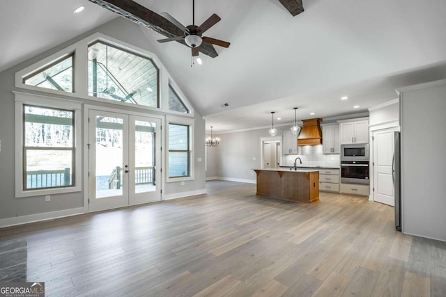
[[[23,77],[23,83],[29,86],[61,90],[72,93],[73,90],[73,55],[64,56],[46,67],[40,68]]]

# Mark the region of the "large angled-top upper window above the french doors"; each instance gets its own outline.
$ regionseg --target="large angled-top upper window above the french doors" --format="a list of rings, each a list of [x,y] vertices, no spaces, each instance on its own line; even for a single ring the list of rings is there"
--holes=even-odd
[[[102,42],[89,45],[89,95],[158,108],[158,68],[149,58]]]

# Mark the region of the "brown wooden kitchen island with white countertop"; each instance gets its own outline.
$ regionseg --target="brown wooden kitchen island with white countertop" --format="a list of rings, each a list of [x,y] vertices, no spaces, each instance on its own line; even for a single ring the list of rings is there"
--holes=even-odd
[[[318,170],[253,170],[257,175],[257,195],[307,203],[319,200]]]

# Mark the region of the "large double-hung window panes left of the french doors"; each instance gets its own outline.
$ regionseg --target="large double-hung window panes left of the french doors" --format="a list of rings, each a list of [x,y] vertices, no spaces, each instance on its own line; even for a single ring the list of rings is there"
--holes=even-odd
[[[23,190],[74,185],[74,111],[23,105]]]

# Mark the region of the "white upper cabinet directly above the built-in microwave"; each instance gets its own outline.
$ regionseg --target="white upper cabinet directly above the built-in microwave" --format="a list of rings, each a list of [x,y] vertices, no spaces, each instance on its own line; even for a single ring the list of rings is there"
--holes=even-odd
[[[369,143],[369,118],[339,121],[341,144]]]

